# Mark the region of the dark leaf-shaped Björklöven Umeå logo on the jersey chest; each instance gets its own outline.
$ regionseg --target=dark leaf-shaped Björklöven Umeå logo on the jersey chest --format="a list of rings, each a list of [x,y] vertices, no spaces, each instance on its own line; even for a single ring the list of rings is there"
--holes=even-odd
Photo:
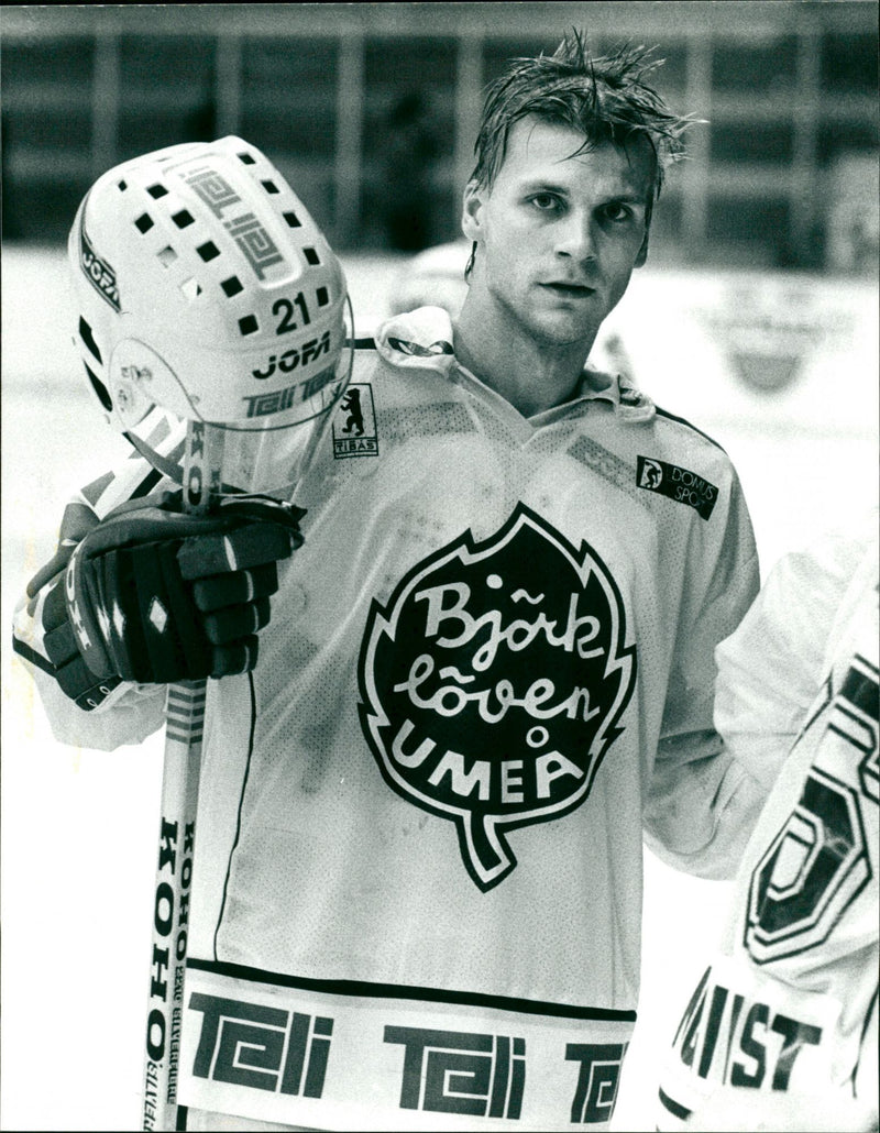
[[[361,647],[361,725],[386,782],[455,823],[480,889],[516,866],[506,832],[587,799],[635,681],[625,611],[595,551],[519,504],[418,563]]]

